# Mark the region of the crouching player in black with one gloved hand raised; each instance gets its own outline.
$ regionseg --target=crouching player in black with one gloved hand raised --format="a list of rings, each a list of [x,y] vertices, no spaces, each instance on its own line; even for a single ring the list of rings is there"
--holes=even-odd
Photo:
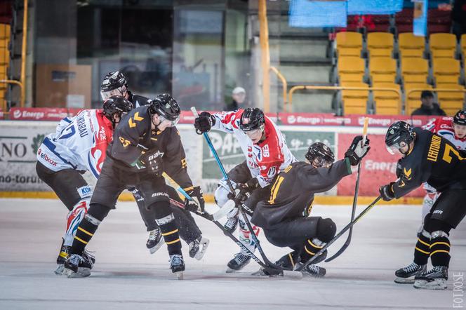
[[[264,229],[270,243],[293,249],[277,264],[296,269],[335,236],[336,226],[331,219],[309,216],[314,194],[328,191],[351,174],[351,166],[357,166],[370,149],[369,140],[364,146],[361,144],[362,137],[354,137],[345,159],[333,163],[331,149],[321,142],[314,143],[305,155],[307,162],[291,163],[274,180],[269,199],[258,203],[251,221]],[[319,261],[325,257],[326,253]],[[317,277],[326,274],[324,268],[315,264],[309,264],[302,272]]]

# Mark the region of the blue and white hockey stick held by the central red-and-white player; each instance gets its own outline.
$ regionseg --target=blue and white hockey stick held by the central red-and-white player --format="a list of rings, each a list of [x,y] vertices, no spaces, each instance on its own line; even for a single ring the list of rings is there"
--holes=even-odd
[[[196,107],[191,107],[191,112],[195,117],[199,117],[199,114],[197,113]],[[227,175],[227,171],[223,167],[222,161],[220,161],[220,158],[218,157],[217,151],[215,151],[215,147],[213,147],[211,138],[208,136],[208,133],[203,133],[203,135],[204,135],[204,138],[206,139],[206,142],[207,142],[207,145],[208,145],[209,149],[211,149],[211,152],[212,152],[212,154],[213,154],[213,156],[215,158],[215,161],[217,162],[218,168],[220,168],[220,171],[222,172],[223,177],[227,181],[229,191],[232,194],[234,194],[235,191],[234,191],[234,187],[233,187],[233,184],[232,184],[232,180],[229,179],[229,177]],[[260,256],[262,257],[262,260],[264,260],[265,265],[267,265],[267,267],[265,267],[263,264],[260,264],[262,267],[264,267],[265,271],[267,271],[270,275],[279,275],[279,274],[285,274],[286,273],[286,274],[292,276],[292,274],[298,274],[298,273],[295,273],[294,271],[286,271],[282,267],[279,267],[276,264],[273,264],[272,262],[270,262],[270,260],[265,255],[265,252],[262,250],[262,246],[260,246],[259,239],[257,238],[257,236],[255,236],[254,229],[253,229],[253,227],[251,225],[251,222],[249,222],[249,220],[248,220],[248,217],[246,215],[246,212],[244,211],[244,206],[243,206],[242,203],[238,203],[238,209],[239,209],[239,212],[241,213],[241,215],[243,215],[244,222],[246,222],[246,226],[248,227],[249,232],[251,233],[251,238],[253,238],[253,241],[256,244],[257,248],[258,248],[258,251],[260,253]],[[224,234],[225,234],[225,228],[224,227],[221,227],[221,228],[222,228],[222,230],[224,231]],[[243,245],[241,243],[240,247],[242,249],[246,249],[246,253],[248,253],[248,255],[251,256],[252,252],[250,250],[248,250],[245,245]],[[253,257],[253,256],[251,256],[251,257]],[[258,262],[258,260],[255,260],[255,261]],[[298,275],[296,275],[296,276],[298,276]]]

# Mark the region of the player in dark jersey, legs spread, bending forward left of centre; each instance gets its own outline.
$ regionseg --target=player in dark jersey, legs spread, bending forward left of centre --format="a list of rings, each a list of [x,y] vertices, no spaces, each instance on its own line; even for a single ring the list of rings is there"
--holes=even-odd
[[[65,262],[67,276],[90,274],[77,274],[81,254],[100,222],[115,207],[121,191],[128,187],[138,189],[145,198],[146,208],[155,214],[168,247],[171,270],[182,276],[185,263],[180,237],[162,173],[165,171],[192,197],[192,200],[185,199],[186,209],[204,212],[204,197],[200,187],[194,187],[187,174],[185,150],[175,128],[179,117],[178,103],[164,94],[121,119],[113,142],[107,148],[107,158],[95,185],[90,208],[79,224],[70,256]]]

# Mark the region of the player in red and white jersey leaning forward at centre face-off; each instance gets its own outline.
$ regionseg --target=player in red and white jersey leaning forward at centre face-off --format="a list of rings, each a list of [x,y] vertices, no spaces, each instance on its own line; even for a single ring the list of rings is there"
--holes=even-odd
[[[197,133],[206,133],[209,130],[222,130],[232,133],[241,146],[246,161],[240,163],[229,171],[228,177],[233,186],[239,191],[239,196],[249,193],[244,199],[246,210],[254,210],[255,205],[266,199],[270,192],[270,183],[274,177],[284,168],[288,167],[296,159],[286,146],[284,136],[279,128],[258,108],[239,109],[234,112],[222,112],[209,114],[202,112],[194,121]],[[220,180],[215,191],[215,202],[220,208],[228,201],[229,188],[226,180]],[[239,218],[235,208],[229,213],[225,229],[233,232],[240,226],[239,240],[249,250],[255,250],[255,243],[250,236],[244,220]],[[253,227],[256,236],[258,227]],[[251,257],[244,250],[234,255],[228,262],[227,272],[239,271],[251,261]]]

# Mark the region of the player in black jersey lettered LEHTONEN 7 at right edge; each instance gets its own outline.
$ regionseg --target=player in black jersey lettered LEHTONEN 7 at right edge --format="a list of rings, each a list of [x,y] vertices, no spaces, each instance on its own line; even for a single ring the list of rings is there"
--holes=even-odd
[[[393,123],[385,135],[391,154],[401,155],[399,179],[380,187],[385,201],[400,198],[428,182],[440,194],[424,219],[414,250],[414,262],[395,272],[397,283],[414,283],[415,288],[446,289],[450,262],[451,229],[466,215],[466,156],[444,137],[404,121]],[[433,268],[426,271],[427,261]]]

